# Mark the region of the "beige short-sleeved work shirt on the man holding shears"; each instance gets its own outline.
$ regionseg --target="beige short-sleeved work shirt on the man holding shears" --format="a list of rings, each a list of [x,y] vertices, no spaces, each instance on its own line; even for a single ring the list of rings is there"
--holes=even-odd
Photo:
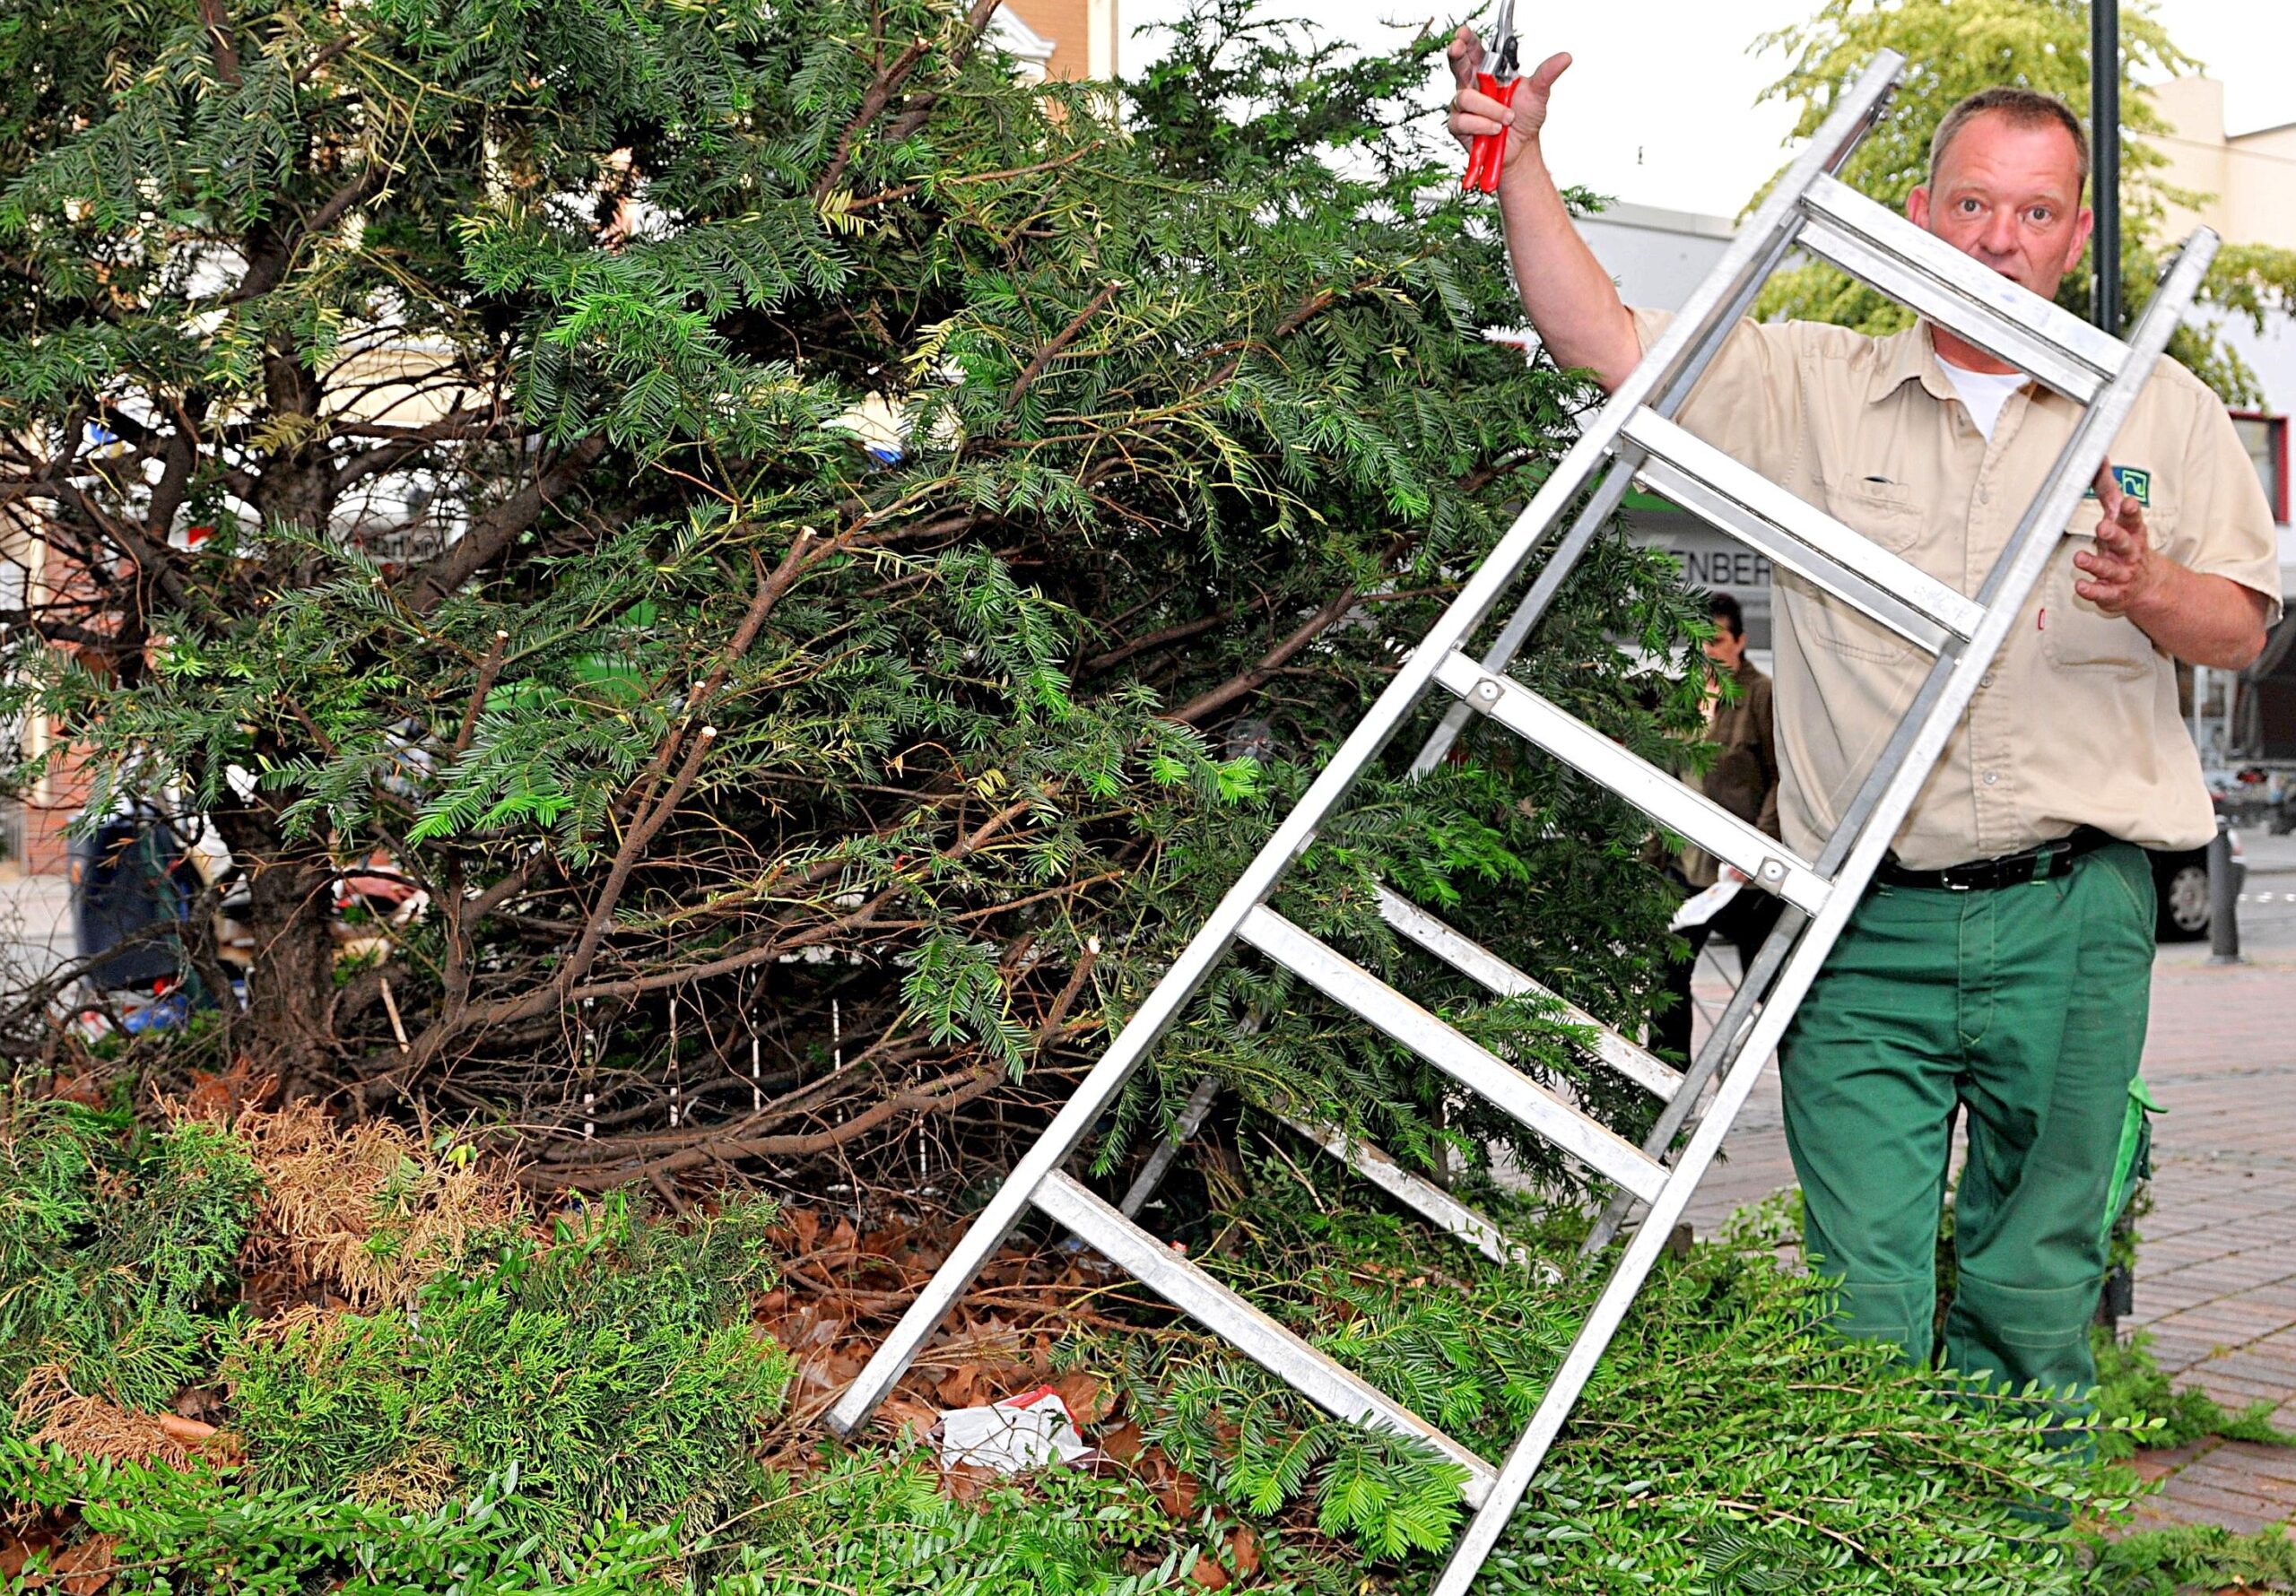
[[[1642,347],[1671,317],[1635,310]],[[2080,406],[2025,383],[1988,443],[1938,365],[1929,326],[1869,338],[1814,321],[1740,321],[1681,420],[1692,434],[1965,595],[2016,533]],[[2144,501],[2151,542],[2229,576],[2280,615],[2264,487],[2223,402],[2163,358],[2108,450]],[[2126,475],[2135,471],[2138,475]],[[1931,772],[1896,857],[1936,870],[2089,824],[2144,847],[2216,834],[2177,673],[2131,620],[2073,595],[2096,535],[2089,496]],[[1807,581],[1777,572],[1770,606],[1779,824],[1816,859],[1906,714],[1929,654]]]

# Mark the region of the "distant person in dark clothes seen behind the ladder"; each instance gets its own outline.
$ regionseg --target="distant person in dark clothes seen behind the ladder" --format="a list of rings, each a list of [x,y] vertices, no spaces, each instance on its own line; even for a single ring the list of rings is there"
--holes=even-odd
[[[1729,592],[1715,592],[1706,602],[1706,615],[1715,634],[1704,650],[1715,661],[1715,684],[1706,710],[1706,742],[1715,746],[1713,765],[1699,778],[1699,790],[1715,804],[1738,815],[1761,831],[1777,836],[1777,742],[1770,733],[1770,677],[1745,657],[1745,609]],[[1722,682],[1731,691],[1722,691]],[[1681,857],[1683,884],[1690,891],[1706,891],[1722,880],[1720,861],[1704,847],[1690,845]],[[1745,880],[1731,870],[1733,880]],[[1674,1056],[1690,1056],[1690,974],[1697,969],[1699,951],[1724,937],[1738,948],[1738,969],[1752,969],[1754,955],[1777,925],[1784,902],[1770,893],[1740,889],[1713,919],[1688,925],[1683,939],[1690,942],[1690,958],[1667,967],[1667,990],[1674,1004],[1662,1008],[1651,1026],[1653,1043]]]

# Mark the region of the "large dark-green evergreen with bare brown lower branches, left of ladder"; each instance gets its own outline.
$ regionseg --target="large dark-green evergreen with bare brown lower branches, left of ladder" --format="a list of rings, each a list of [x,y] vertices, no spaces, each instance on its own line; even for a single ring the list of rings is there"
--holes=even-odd
[[[1118,119],[987,18],[16,7],[0,508],[69,581],[0,618],[0,712],[234,861],[214,1008],[138,1068],[478,1116],[537,1183],[916,1183],[1097,1052],[1589,395],[1479,333],[1499,250],[1405,103],[1440,41],[1224,0]],[[1683,622],[1614,542],[1525,671],[1665,758],[1694,684],[1653,721],[1609,643]],[[1642,843],[1476,739],[1366,783],[1286,905],[1401,964],[1384,877],[1632,1022]],[[360,880],[429,909],[347,960]],[[90,1066],[46,1015],[16,1059]],[[1417,1063],[1249,962],[1164,1061],[1437,1134]]]

